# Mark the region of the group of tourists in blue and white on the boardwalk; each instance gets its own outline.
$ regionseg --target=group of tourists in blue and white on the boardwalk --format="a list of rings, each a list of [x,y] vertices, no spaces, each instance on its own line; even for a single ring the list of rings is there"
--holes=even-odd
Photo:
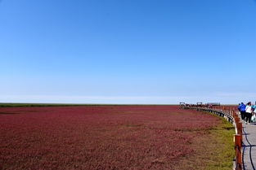
[[[245,120],[245,124],[250,124],[251,122],[255,121],[256,102],[254,105],[252,102],[247,102],[246,105],[244,102],[241,102],[239,103],[237,109],[240,111],[242,120]]]

